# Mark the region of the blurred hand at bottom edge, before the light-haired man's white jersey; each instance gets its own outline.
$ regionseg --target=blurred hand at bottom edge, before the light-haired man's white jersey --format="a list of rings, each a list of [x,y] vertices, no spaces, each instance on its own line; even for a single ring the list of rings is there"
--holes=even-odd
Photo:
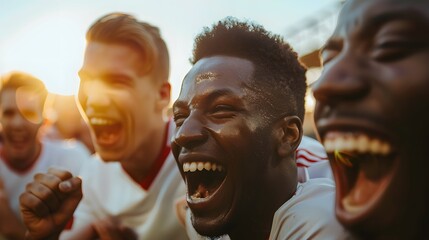
[[[100,240],[136,240],[137,235],[133,229],[118,224],[115,221],[104,219],[92,224]]]

